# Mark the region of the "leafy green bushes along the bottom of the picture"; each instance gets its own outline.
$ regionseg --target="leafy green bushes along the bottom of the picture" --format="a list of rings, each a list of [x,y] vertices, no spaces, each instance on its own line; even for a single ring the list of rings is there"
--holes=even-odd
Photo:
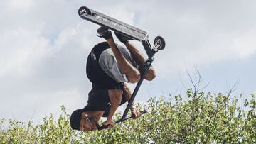
[[[242,108],[229,94],[196,94],[188,89],[186,96],[169,97],[139,104],[148,113],[112,130],[72,131],[64,106],[57,121],[50,115],[36,126],[9,120],[8,128],[3,128],[7,121],[2,119],[0,143],[256,143],[255,95]],[[120,117],[121,113],[115,115]]]

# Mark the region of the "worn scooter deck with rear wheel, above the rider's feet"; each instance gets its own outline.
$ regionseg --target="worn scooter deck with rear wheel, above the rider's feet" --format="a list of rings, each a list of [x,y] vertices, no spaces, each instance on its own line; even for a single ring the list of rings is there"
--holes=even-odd
[[[82,19],[91,21],[92,23],[97,23],[100,26],[105,26],[110,28],[112,31],[122,33],[127,35],[129,38],[139,40],[142,43],[146,43],[148,40],[149,35],[146,33],[146,31],[142,31],[139,28],[131,26],[122,21],[118,21],[117,19],[111,18],[110,16],[106,16],[103,13],[88,9],[85,6],[80,7],[78,14]]]

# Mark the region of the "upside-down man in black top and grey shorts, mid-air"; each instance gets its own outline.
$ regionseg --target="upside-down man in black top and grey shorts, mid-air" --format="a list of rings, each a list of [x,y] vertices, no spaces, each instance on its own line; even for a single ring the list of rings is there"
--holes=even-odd
[[[101,117],[107,117],[102,125],[113,128],[115,111],[132,96],[127,82],[139,81],[146,62],[146,58],[132,45],[130,38],[115,33],[125,46],[117,45],[107,28],[100,27],[97,33],[107,42],[95,45],[87,57],[86,74],[92,82],[92,90],[88,94],[87,106],[73,111],[70,116],[70,126],[74,130],[97,130]],[[144,79],[150,81],[154,77],[156,72],[150,67]],[[132,118],[139,118],[142,114],[134,104],[130,110]]]

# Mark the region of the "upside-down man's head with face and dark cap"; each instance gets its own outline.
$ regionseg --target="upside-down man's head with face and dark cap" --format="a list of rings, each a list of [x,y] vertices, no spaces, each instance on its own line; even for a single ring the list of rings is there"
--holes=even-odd
[[[97,129],[92,124],[92,118],[89,118],[83,109],[73,111],[70,116],[70,126],[73,130],[92,131]]]

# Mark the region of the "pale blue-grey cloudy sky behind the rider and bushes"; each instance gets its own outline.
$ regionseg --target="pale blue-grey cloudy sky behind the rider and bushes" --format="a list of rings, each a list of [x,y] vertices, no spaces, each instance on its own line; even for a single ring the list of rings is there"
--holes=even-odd
[[[154,58],[157,77],[136,101],[186,92],[186,70],[201,72],[206,92],[256,93],[256,1],[0,1],[0,118],[40,123],[87,104],[85,62],[99,26],[78,16],[88,6],[166,40]],[[118,41],[117,41],[118,43]],[[134,41],[140,50],[139,42]],[[183,83],[183,84],[182,84]],[[183,87],[185,85],[185,87]],[[131,87],[134,87],[132,85]]]

